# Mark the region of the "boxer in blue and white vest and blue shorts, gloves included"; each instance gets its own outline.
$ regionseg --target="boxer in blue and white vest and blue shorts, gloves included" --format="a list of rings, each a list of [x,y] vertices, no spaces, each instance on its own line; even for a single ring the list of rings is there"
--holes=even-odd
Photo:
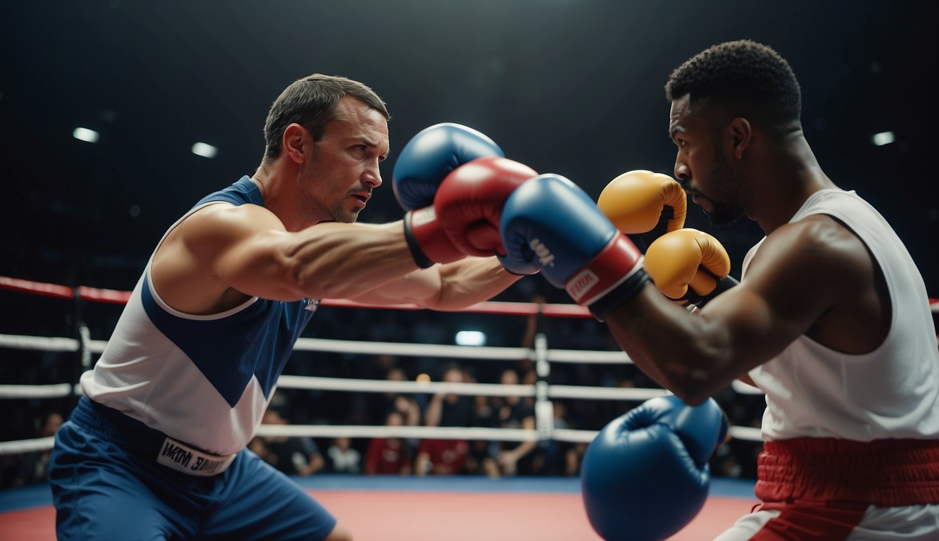
[[[513,284],[492,256],[498,229],[472,224],[535,175],[439,124],[395,164],[404,220],[356,224],[382,183],[388,119],[361,83],[301,79],[270,108],[254,176],[168,229],[56,435],[59,539],[351,538],[245,449],[296,339],[321,298],[457,309]]]

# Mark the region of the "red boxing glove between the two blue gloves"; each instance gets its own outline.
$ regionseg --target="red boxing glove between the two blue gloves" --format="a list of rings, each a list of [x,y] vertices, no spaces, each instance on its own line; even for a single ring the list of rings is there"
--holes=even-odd
[[[506,158],[477,158],[454,169],[434,197],[437,220],[454,247],[466,255],[505,255],[499,234],[502,206],[522,182],[537,175]]]

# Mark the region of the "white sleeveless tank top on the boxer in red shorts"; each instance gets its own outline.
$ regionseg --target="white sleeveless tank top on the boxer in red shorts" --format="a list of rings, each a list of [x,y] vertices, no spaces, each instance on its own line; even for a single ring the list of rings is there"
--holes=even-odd
[[[802,335],[750,370],[766,394],[763,440],[939,437],[939,348],[916,264],[884,217],[854,192],[813,193],[790,223],[812,214],[837,218],[868,246],[890,294],[890,330],[880,347],[861,355]],[[747,253],[744,275],[763,240]]]

